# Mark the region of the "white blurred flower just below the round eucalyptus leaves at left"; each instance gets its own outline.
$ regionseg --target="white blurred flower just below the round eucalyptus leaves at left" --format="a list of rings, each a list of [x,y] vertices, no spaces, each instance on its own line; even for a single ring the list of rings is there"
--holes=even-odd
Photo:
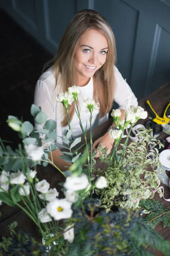
[[[44,154],[44,150],[42,147],[37,147],[32,143],[28,146],[25,146],[25,149],[27,156],[31,157],[33,161],[41,160],[41,157]]]

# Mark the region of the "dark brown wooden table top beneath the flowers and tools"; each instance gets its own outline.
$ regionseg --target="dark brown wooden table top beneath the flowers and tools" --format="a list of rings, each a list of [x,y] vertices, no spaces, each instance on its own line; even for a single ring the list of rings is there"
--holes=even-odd
[[[167,104],[170,102],[170,82],[167,84],[164,84],[160,88],[158,88],[156,91],[151,93],[150,95],[146,96],[144,99],[141,99],[139,101],[139,106],[146,109],[146,100],[150,101],[150,104],[156,111],[156,113],[159,114],[159,116],[162,116],[164,113],[164,110],[167,106]],[[149,118],[147,117],[149,120]],[[147,119],[143,120],[140,119],[139,123],[144,123],[147,121]],[[106,131],[108,131],[109,126],[112,124],[113,119],[109,119],[107,122],[103,123],[99,127],[94,129],[94,140],[101,137],[103,134],[105,134]],[[167,134],[164,132],[159,136],[161,139],[164,139],[168,137]],[[89,136],[87,136],[89,140]],[[99,160],[96,161],[96,165],[100,166]],[[47,167],[41,167],[38,168],[38,176],[39,179],[46,179],[49,183],[51,188],[56,187],[57,190],[60,190],[60,186],[58,185],[59,182],[64,181],[63,175],[61,175],[56,169],[54,169],[52,166]],[[161,184],[164,186],[165,189],[165,198],[170,198],[170,188],[168,188],[166,185]],[[62,197],[62,194],[60,194],[60,197]],[[170,202],[164,201],[163,198],[159,197],[159,194],[156,193],[154,198],[161,203],[164,204],[165,207],[170,207]],[[12,222],[17,221],[18,227],[23,227],[26,229],[31,235],[37,239],[37,241],[41,241],[41,235],[37,230],[36,225],[31,221],[31,219],[17,206],[15,207],[9,207],[6,204],[2,204],[0,206],[0,212],[2,213],[2,216],[0,217],[0,236],[10,236],[8,225],[10,225]],[[159,232],[159,234],[164,238],[170,240],[170,230],[165,227],[163,228],[163,225],[160,223],[156,227],[156,231]],[[152,251],[154,255],[161,256],[162,253],[158,251]]]

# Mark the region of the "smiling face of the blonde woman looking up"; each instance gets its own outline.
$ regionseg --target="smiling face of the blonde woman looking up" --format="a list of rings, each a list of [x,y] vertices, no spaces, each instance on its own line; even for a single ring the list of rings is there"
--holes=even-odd
[[[79,40],[74,55],[79,86],[84,86],[106,61],[108,41],[96,29],[87,30]]]

